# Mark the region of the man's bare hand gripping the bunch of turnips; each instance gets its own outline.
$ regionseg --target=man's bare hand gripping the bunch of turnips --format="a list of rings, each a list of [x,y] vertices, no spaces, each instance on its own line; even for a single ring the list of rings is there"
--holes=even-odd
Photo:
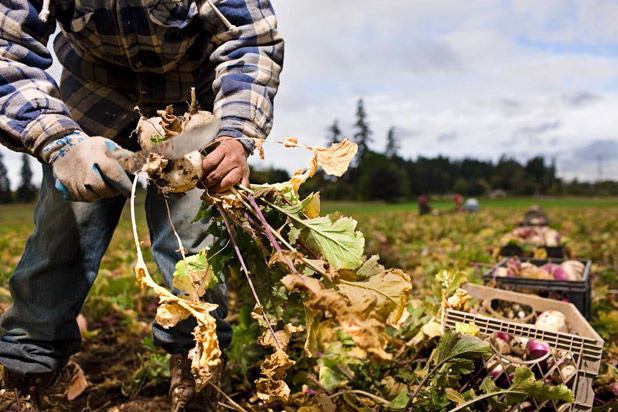
[[[245,146],[231,137],[220,137],[217,141],[219,145],[202,160],[204,187],[210,192],[225,192],[239,182],[249,186]]]

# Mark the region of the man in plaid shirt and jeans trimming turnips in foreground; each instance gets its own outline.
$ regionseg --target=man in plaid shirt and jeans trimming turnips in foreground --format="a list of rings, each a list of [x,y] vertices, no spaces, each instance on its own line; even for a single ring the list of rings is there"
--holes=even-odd
[[[253,144],[237,138],[270,132],[283,41],[269,0],[0,0],[0,18],[0,141],[43,167],[36,228],[10,279],[13,304],[1,318],[0,364],[9,390],[1,391],[0,410],[36,410],[80,350],[75,318],[130,190],[116,158],[139,149],[131,138],[139,117],[134,107],[144,115],[168,104],[184,111],[195,87],[202,108],[221,120],[218,136],[235,138],[204,159],[204,185],[222,191],[246,183]],[[56,22],[60,88],[45,72]],[[207,245],[208,222],[190,223],[200,195],[193,190],[169,199],[190,254]],[[171,286],[179,255],[165,204],[152,187],[145,208],[153,256]],[[225,287],[205,299],[219,305],[214,315],[225,348],[232,334],[224,321]],[[155,343],[172,354],[175,411],[209,396],[195,393],[188,372],[194,322],[153,325]]]

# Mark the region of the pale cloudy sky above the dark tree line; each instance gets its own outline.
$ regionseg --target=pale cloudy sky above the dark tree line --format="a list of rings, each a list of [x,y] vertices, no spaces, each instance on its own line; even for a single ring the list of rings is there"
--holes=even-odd
[[[541,155],[565,179],[618,179],[618,2],[272,3],[286,44],[269,140],[324,145],[335,120],[351,137],[362,98],[377,151],[394,127],[404,158]],[[265,150],[250,163],[309,159]],[[20,157],[0,153],[16,185]]]

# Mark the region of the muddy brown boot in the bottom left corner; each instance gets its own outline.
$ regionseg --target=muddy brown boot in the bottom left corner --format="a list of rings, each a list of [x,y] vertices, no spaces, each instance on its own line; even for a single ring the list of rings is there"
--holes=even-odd
[[[0,390],[0,411],[36,412],[43,410],[43,395],[57,376],[57,372],[22,376],[5,369]]]

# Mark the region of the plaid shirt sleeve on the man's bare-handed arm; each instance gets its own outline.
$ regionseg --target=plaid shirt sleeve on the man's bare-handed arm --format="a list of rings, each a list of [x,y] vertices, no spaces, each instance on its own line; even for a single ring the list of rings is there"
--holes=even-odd
[[[217,6],[239,30],[234,34],[221,28],[211,40],[214,112],[222,121],[219,135],[264,139],[272,128],[283,64],[274,11],[268,0],[226,0]],[[243,143],[253,150],[252,141]]]

